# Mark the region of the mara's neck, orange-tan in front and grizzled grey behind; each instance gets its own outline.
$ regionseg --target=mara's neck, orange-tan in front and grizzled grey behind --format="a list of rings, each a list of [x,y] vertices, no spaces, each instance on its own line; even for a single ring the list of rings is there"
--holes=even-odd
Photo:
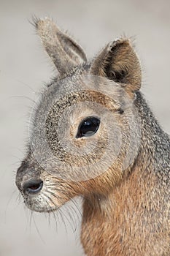
[[[165,209],[170,141],[142,94],[137,94],[135,104],[142,120],[142,139],[131,170],[107,195],[90,195],[84,200],[81,238],[88,255],[106,255],[107,251],[109,255],[161,255],[158,248],[169,248],[161,233],[169,236]],[[129,238],[131,243],[127,243]]]

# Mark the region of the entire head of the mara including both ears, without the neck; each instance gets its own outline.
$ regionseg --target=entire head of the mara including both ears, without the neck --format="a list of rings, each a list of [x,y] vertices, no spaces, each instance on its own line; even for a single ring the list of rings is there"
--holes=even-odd
[[[52,20],[36,20],[36,30],[58,76],[33,108],[16,184],[28,208],[50,212],[77,195],[106,195],[128,175],[140,143],[141,68],[127,38],[87,61]]]

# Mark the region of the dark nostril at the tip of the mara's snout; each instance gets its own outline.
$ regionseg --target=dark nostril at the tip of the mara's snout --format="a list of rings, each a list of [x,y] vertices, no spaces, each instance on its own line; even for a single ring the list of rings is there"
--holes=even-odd
[[[43,181],[40,179],[31,179],[23,184],[23,191],[28,194],[37,194],[43,187]]]

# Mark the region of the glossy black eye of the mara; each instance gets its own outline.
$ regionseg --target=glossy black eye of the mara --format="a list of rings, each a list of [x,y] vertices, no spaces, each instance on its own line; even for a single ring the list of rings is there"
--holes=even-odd
[[[100,125],[100,120],[98,118],[96,117],[85,118],[81,122],[78,128],[76,138],[89,137],[94,135],[97,132],[99,125]]]

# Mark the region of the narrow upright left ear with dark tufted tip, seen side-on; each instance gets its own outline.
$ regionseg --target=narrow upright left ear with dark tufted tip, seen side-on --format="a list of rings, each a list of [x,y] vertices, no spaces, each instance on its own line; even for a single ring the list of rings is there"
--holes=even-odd
[[[61,32],[52,20],[49,18],[36,20],[35,24],[37,34],[42,40],[42,45],[58,72],[64,74],[87,61],[82,48]]]

